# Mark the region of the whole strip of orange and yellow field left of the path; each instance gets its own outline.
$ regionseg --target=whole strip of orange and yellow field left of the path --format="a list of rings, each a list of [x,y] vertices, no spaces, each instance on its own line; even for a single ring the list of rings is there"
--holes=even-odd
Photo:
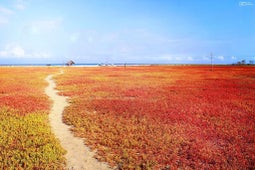
[[[63,169],[44,94],[55,68],[0,67],[0,169]]]

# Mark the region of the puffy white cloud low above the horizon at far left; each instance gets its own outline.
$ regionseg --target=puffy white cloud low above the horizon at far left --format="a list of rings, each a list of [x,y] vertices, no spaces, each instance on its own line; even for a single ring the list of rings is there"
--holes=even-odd
[[[10,43],[0,51],[0,57],[6,58],[48,58],[50,55],[44,52],[27,52],[22,46],[16,43]]]

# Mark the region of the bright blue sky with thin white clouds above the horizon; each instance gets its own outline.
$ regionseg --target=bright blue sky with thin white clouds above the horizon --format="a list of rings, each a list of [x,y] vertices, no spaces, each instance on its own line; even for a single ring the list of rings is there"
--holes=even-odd
[[[255,61],[255,0],[0,0],[0,64]]]

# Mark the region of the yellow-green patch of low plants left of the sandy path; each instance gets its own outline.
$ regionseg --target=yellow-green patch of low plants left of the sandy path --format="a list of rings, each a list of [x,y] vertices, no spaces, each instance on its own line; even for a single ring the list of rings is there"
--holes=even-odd
[[[0,108],[0,169],[62,169],[63,154],[46,113]]]

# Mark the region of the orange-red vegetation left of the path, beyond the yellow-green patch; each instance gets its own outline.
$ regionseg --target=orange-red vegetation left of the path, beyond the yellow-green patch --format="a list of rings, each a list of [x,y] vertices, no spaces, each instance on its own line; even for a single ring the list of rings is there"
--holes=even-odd
[[[44,94],[47,86],[44,79],[53,71],[50,68],[0,67],[0,108],[12,108],[21,115],[48,112],[49,99]]]

